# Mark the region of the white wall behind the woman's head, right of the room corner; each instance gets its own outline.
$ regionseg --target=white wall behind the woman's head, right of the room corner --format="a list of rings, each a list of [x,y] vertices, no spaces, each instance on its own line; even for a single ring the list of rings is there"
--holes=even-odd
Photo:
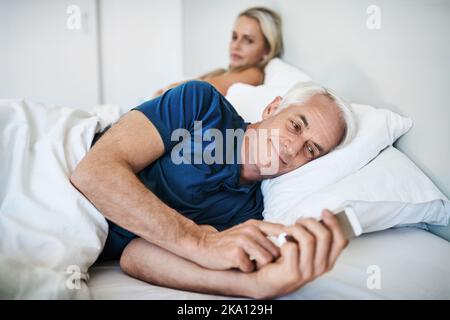
[[[287,62],[350,102],[411,117],[414,127],[398,147],[450,196],[450,1],[188,0],[187,73],[228,61],[230,22],[255,3],[280,11]],[[369,5],[381,8],[380,30],[366,27]]]

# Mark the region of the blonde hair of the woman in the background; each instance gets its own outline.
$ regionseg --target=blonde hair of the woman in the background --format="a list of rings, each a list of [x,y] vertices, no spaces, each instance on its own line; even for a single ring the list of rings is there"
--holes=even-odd
[[[253,7],[241,12],[239,17],[255,19],[261,27],[269,53],[259,63],[259,67],[264,68],[270,60],[283,55],[282,21],[277,12],[265,7]]]

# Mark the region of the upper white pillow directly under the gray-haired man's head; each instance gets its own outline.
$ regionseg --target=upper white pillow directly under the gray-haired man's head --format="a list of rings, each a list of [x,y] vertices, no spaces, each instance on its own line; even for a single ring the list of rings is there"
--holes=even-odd
[[[274,179],[264,180],[266,214],[292,209],[312,193],[358,171],[412,126],[412,121],[387,109],[353,104],[357,132],[346,146]]]

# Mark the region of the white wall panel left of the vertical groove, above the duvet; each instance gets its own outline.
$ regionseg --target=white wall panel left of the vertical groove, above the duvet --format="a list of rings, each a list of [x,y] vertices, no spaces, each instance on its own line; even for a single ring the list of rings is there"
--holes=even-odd
[[[66,28],[79,5],[87,31]],[[0,97],[70,107],[98,101],[95,5],[91,0],[0,0]]]

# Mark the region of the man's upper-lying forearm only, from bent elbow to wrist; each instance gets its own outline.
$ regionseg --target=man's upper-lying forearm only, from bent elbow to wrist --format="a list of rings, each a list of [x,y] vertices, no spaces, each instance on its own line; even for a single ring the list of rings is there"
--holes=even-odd
[[[106,218],[182,257],[195,251],[204,233],[158,199],[126,165],[81,162],[71,181]]]

